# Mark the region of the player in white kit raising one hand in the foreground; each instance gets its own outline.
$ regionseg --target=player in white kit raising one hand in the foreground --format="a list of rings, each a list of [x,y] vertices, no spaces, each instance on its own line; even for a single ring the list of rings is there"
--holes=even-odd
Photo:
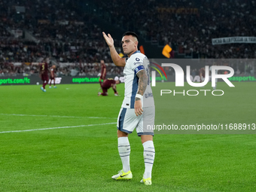
[[[112,178],[115,180],[133,178],[130,170],[128,135],[133,133],[136,128],[144,148],[145,172],[141,182],[151,185],[151,172],[155,156],[154,130],[148,130],[147,125],[154,125],[154,98],[149,81],[148,62],[143,62],[147,57],[138,50],[136,33],[126,32],[123,34],[123,53],[127,54],[128,58],[121,58],[118,55],[110,34],[106,35],[105,32],[102,34],[108,44],[114,65],[124,67],[123,74],[125,77],[125,96],[117,117],[118,152],[123,169],[117,175],[113,175]]]

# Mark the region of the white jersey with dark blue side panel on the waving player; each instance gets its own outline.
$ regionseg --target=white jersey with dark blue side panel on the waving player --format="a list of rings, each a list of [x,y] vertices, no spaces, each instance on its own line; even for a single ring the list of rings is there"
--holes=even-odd
[[[126,59],[126,65],[123,69],[125,90],[122,108],[134,108],[135,96],[138,92],[139,84],[137,73],[141,70],[145,70],[148,75],[148,85],[142,97],[142,107],[154,106],[154,98],[151,90],[151,81],[148,70],[149,63],[143,63],[143,59],[147,59],[147,57],[140,53],[139,50]]]

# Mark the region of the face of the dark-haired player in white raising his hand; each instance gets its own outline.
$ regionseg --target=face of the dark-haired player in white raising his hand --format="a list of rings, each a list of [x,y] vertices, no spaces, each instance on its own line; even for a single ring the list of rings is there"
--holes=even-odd
[[[122,38],[123,53],[130,56],[137,50],[138,41],[132,35],[126,35]]]

